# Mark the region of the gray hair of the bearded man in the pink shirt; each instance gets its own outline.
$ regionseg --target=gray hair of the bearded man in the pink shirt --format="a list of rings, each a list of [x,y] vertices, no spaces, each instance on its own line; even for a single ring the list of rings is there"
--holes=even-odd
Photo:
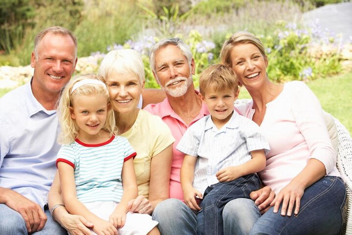
[[[155,68],[155,53],[161,49],[162,47],[168,46],[168,45],[174,45],[177,46],[183,53],[183,55],[187,58],[187,62],[189,66],[191,66],[192,63],[192,52],[189,49],[189,47],[182,41],[181,38],[167,38],[163,39],[150,50],[149,54],[149,64],[150,68],[153,70],[153,72],[156,72]]]

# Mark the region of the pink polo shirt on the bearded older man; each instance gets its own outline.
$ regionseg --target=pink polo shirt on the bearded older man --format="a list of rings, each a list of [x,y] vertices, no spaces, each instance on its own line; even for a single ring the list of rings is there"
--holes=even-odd
[[[183,201],[183,191],[180,182],[180,170],[184,153],[178,151],[176,149],[176,146],[188,127],[190,127],[193,123],[203,118],[204,116],[209,115],[208,108],[205,103],[202,102],[202,108],[200,110],[200,113],[198,114],[198,116],[196,116],[193,121],[189,123],[188,126],[186,125],[186,123],[184,123],[180,116],[178,116],[171,108],[168,98],[165,98],[164,101],[157,104],[149,104],[144,108],[144,110],[147,110],[151,114],[159,116],[166,123],[166,125],[169,126],[171,133],[176,140],[174,144],[172,144],[170,198],[178,198]]]

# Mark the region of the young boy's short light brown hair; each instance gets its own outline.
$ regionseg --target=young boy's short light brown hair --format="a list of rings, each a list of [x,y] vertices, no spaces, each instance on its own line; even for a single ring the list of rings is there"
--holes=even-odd
[[[237,92],[238,78],[232,69],[223,64],[213,64],[205,69],[199,78],[199,91],[202,96],[211,88],[213,91],[225,91],[228,89]]]

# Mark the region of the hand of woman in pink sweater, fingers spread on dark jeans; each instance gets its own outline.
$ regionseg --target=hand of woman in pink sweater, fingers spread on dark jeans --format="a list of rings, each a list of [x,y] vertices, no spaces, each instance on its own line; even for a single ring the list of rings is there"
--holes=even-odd
[[[277,213],[282,202],[281,215],[291,216],[294,205],[295,207],[295,215],[298,214],[300,210],[301,198],[304,193],[304,186],[299,183],[295,183],[291,181],[285,188],[283,188],[279,194],[275,197],[274,201],[271,202],[271,206],[274,206],[274,213]],[[288,208],[287,208],[288,206]]]

